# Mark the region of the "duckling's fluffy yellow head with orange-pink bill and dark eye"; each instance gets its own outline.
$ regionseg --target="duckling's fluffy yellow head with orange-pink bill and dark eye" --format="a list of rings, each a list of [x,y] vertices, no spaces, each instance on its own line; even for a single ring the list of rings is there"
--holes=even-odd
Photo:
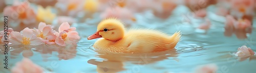
[[[103,37],[110,41],[117,41],[123,38],[124,30],[124,25],[121,20],[117,18],[107,18],[99,23],[96,33],[89,36],[87,39],[91,40]]]

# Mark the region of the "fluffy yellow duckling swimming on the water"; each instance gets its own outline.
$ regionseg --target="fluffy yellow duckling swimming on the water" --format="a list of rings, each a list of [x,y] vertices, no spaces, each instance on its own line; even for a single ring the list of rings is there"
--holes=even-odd
[[[173,49],[180,40],[180,32],[168,36],[160,31],[133,29],[125,32],[123,22],[116,18],[102,20],[97,32],[88,40],[98,39],[93,47],[98,51],[116,53],[151,53]]]

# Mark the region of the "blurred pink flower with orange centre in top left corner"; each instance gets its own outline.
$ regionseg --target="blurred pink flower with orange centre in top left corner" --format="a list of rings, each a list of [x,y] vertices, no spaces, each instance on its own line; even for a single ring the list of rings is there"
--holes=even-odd
[[[30,25],[36,22],[36,15],[29,6],[30,3],[27,1],[20,3],[16,0],[12,6],[8,6],[4,9],[4,15],[9,16],[9,19],[13,20],[13,22]]]

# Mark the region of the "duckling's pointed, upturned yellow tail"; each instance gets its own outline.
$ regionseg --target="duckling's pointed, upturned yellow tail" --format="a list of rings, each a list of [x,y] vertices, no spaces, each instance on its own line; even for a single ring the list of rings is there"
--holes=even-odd
[[[176,46],[176,44],[179,42],[181,38],[181,32],[176,32],[174,33],[172,36],[170,36],[170,39],[169,41],[171,42],[170,43],[170,48],[174,48]]]

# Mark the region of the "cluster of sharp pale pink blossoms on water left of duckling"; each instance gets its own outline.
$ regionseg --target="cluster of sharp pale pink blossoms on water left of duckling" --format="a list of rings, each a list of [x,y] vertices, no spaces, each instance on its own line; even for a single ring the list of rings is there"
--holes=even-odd
[[[65,46],[66,44],[76,43],[80,39],[76,28],[70,27],[68,22],[63,22],[58,32],[52,29],[51,25],[40,22],[38,29],[25,28],[20,32],[11,32],[9,42],[15,45],[39,45],[39,44],[58,44]]]

